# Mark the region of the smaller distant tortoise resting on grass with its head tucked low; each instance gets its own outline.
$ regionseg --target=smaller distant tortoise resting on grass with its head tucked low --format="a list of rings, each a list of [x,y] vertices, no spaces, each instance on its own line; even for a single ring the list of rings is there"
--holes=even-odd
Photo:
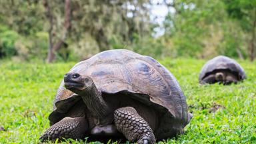
[[[225,56],[217,56],[209,60],[201,69],[199,83],[237,83],[245,79],[243,67],[234,59]]]

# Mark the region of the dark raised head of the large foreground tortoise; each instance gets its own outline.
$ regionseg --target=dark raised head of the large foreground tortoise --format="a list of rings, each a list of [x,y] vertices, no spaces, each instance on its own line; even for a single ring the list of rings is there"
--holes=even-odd
[[[67,73],[64,75],[64,83],[66,89],[79,94],[93,86],[93,79],[79,73]]]

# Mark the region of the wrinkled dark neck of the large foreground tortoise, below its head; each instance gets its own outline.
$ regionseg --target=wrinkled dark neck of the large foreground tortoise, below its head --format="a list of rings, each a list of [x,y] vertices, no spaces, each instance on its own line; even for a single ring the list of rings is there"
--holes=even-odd
[[[109,114],[109,106],[103,99],[101,91],[97,89],[95,84],[92,84],[91,89],[88,89],[85,95],[82,96],[85,105],[89,111],[97,118],[104,119]]]

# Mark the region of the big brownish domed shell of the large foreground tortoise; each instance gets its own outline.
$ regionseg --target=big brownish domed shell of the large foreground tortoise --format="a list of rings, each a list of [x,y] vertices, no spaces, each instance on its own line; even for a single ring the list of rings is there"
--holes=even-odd
[[[125,93],[157,109],[161,113],[157,133],[171,135],[173,129],[182,131],[190,121],[191,115],[187,111],[186,99],[179,83],[151,57],[125,49],[103,51],[77,63],[69,72],[91,77],[103,94]],[[79,99],[81,97],[65,89],[62,81],[49,120],[52,123],[59,121],[58,117]],[[161,138],[161,135],[156,137]]]

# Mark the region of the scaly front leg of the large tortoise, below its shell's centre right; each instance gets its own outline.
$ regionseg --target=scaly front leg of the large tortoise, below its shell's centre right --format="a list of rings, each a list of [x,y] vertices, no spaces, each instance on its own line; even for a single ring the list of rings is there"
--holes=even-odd
[[[155,135],[149,124],[133,107],[122,107],[115,110],[117,129],[131,141],[137,143],[155,143]]]

